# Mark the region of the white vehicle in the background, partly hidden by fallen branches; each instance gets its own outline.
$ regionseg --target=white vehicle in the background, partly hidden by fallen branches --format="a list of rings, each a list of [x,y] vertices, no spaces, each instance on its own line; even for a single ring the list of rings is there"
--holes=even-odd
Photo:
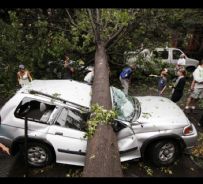
[[[160,59],[163,62],[168,64],[175,65],[181,54],[185,55],[186,60],[186,70],[194,71],[198,66],[199,61],[196,59],[191,59],[186,56],[186,54],[178,48],[155,48],[152,52],[149,49],[144,49],[142,52],[129,51],[124,53],[124,60],[127,64],[132,62],[137,62],[139,56],[143,56],[146,61],[150,61],[152,59]]]

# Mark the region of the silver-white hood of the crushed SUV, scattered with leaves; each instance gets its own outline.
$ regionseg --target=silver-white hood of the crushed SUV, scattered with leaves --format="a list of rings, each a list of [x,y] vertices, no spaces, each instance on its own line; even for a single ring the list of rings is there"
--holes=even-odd
[[[158,96],[136,98],[141,106],[138,122],[154,123],[155,125],[179,124],[180,126],[189,124],[189,120],[180,107],[167,98]]]

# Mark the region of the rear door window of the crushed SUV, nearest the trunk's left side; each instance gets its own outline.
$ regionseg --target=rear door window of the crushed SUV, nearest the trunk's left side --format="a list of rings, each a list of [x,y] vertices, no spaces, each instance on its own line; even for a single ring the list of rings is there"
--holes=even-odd
[[[63,108],[55,124],[62,127],[85,131],[88,117],[89,113],[81,113],[74,109]]]

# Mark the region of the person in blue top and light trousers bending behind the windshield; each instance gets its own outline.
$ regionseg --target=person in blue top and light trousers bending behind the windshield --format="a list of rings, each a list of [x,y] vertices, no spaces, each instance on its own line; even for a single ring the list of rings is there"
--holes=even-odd
[[[136,68],[135,64],[125,67],[119,75],[119,80],[121,81],[123,91],[126,95],[128,94],[131,76],[132,76],[132,73],[135,70],[135,68]]]

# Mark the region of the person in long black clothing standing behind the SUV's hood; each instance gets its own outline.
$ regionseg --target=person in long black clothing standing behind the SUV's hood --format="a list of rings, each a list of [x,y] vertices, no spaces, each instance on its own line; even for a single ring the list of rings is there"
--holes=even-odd
[[[172,90],[172,96],[171,96],[171,100],[173,102],[178,102],[181,97],[183,96],[183,90],[185,87],[185,76],[186,76],[186,71],[185,69],[181,68],[178,70],[177,72],[177,79],[175,81],[175,84],[172,86],[173,90]]]

